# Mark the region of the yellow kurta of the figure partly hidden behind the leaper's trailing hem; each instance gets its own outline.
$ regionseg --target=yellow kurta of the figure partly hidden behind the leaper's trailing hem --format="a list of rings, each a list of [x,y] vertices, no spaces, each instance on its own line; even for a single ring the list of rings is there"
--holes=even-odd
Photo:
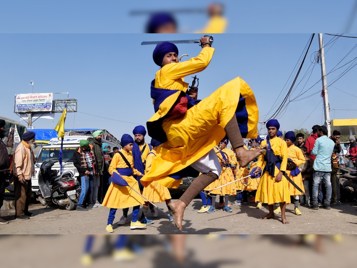
[[[151,150],[151,153],[148,154],[146,157],[145,173],[150,171],[152,160],[154,160],[156,156],[155,150]],[[160,203],[160,202],[164,202],[167,199],[171,199],[169,189],[167,189],[167,187],[155,181],[152,181],[149,185],[144,187],[144,191],[142,192],[142,195],[144,195],[152,203]]]

